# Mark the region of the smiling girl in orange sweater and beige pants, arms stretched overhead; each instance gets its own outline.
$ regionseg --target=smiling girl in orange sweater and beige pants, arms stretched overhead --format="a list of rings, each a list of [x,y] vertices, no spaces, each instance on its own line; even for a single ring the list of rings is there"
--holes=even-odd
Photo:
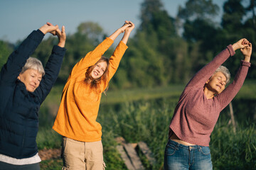
[[[63,135],[63,169],[105,169],[102,127],[96,121],[100,98],[117,71],[133,29],[134,23],[125,21],[70,72],[53,125],[53,130]],[[103,57],[120,33],[124,35],[113,55]]]

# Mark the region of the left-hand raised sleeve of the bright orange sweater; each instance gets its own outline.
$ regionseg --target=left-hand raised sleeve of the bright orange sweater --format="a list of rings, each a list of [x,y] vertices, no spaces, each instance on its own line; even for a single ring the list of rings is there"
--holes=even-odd
[[[88,52],[85,57],[82,58],[72,69],[72,72],[70,74],[70,78],[77,78],[79,76],[85,76],[85,72],[88,67],[94,65],[98,60],[100,60],[100,57],[109,49],[109,47],[112,45],[114,41],[110,38],[106,38],[104,41],[102,41],[95,50]]]

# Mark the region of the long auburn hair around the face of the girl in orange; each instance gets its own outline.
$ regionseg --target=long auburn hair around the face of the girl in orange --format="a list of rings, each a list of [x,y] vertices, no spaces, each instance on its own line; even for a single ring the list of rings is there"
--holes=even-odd
[[[97,78],[97,79],[93,79],[91,77],[91,73],[92,70],[96,67],[96,65],[99,62],[107,62],[107,68],[105,69],[105,72],[102,74],[101,77]],[[85,83],[86,84],[90,84],[90,87],[92,89],[97,89],[100,86],[100,82],[104,82],[105,84],[107,84],[107,79],[108,79],[108,72],[109,72],[109,65],[110,65],[110,60],[107,57],[102,56],[100,58],[100,60],[98,60],[94,65],[88,67],[87,71],[85,72]],[[105,92],[108,89],[108,84],[107,84],[107,88],[105,89],[105,91],[103,92],[105,94]]]

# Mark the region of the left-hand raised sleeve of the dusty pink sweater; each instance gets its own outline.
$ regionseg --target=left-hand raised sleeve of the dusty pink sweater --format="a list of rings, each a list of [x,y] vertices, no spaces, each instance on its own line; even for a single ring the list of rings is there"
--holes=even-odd
[[[232,45],[228,45],[228,47],[216,55],[211,62],[206,64],[201,70],[199,70],[196,75],[188,82],[187,86],[204,86],[206,81],[210,79],[216,69],[220,67],[225,60],[235,55],[235,51],[233,50]]]

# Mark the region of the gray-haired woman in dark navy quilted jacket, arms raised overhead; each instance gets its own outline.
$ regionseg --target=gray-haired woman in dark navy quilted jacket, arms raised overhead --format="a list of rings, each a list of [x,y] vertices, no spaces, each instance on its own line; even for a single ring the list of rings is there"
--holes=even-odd
[[[45,69],[29,57],[46,33],[57,35]],[[65,28],[46,23],[11,53],[0,72],[0,169],[40,169],[38,110],[58,77],[65,55]]]

